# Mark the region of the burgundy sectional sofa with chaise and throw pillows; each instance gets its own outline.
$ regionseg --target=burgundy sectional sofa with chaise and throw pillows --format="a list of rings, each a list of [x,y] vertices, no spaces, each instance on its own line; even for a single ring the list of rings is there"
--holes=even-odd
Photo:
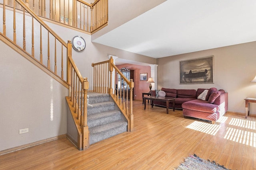
[[[204,89],[170,89],[162,88],[167,97],[174,97],[175,109],[182,109],[183,116],[195,117],[212,121],[214,124],[228,110],[228,93],[216,88]],[[208,90],[205,100],[198,99],[198,96]],[[151,96],[156,96],[156,90],[151,91]],[[165,102],[154,102],[156,106],[166,107]],[[172,104],[169,105],[172,108]]]

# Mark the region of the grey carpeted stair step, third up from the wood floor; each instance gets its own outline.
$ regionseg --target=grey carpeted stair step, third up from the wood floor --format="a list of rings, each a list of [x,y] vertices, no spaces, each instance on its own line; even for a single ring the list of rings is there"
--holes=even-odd
[[[87,105],[87,115],[114,110],[114,102],[100,102]]]

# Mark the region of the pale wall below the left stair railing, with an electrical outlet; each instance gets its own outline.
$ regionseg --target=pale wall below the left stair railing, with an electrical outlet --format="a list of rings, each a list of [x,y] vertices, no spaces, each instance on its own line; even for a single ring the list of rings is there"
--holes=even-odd
[[[66,134],[68,89],[2,41],[0,50],[0,150]]]

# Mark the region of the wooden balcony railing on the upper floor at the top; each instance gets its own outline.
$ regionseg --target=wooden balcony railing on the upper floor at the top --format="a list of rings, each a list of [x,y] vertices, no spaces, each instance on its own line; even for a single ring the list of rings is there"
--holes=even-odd
[[[108,24],[108,0],[22,0],[38,16],[94,33]],[[47,2],[47,3],[46,3]],[[13,7],[13,0],[7,4]],[[22,7],[16,5],[22,10]]]

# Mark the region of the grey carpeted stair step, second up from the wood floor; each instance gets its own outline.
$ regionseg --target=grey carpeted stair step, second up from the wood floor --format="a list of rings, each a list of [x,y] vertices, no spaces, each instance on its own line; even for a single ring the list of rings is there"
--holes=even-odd
[[[121,120],[121,112],[118,110],[111,110],[101,113],[90,114],[87,117],[88,127],[96,127],[99,125],[104,125],[111,123],[113,121]]]

